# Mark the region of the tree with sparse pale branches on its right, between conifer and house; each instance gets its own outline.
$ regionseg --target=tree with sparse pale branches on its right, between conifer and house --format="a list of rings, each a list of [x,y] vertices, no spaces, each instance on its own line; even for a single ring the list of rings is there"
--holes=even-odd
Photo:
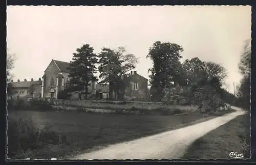
[[[110,48],[102,48],[99,54],[99,82],[101,85],[109,84],[109,96],[112,98],[112,93],[118,96],[118,99],[123,98],[125,88],[124,79],[127,77],[127,72],[134,69],[138,63],[138,58],[134,54],[125,54],[126,50],[120,46],[116,50]]]

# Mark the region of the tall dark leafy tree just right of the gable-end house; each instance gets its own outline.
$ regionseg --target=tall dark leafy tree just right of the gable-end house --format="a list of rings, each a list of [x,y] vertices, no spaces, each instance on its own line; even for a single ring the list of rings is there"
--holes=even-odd
[[[153,68],[148,70],[151,72],[150,84],[153,100],[161,100],[164,88],[176,81],[182,51],[183,48],[180,45],[169,42],[157,41],[153,47],[150,47],[146,58],[153,61]]]

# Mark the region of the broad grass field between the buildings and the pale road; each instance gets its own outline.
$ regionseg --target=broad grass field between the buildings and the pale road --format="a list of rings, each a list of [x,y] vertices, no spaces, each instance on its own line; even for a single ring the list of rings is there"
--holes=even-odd
[[[64,158],[95,149],[95,147],[133,140],[145,135],[196,124],[214,117],[206,114],[153,116],[38,111],[8,113],[8,119],[29,118],[37,128],[42,128],[47,123],[52,125],[52,129],[62,132],[70,144],[28,151],[16,158]]]

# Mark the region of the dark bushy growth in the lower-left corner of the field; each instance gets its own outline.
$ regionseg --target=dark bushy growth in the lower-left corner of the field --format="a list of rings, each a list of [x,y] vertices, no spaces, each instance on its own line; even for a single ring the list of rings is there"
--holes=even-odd
[[[41,130],[36,129],[32,120],[14,121],[8,119],[8,157],[20,155],[28,150],[44,148],[47,145],[68,143],[66,136],[51,130],[46,125]]]

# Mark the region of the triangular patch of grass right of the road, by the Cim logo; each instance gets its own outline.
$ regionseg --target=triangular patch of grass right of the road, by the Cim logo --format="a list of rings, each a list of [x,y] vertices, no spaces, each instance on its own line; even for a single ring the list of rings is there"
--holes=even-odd
[[[195,141],[183,156],[184,159],[230,159],[230,152],[242,153],[244,158],[249,158],[249,146],[243,140],[249,142],[250,118],[241,115],[207,133]]]

